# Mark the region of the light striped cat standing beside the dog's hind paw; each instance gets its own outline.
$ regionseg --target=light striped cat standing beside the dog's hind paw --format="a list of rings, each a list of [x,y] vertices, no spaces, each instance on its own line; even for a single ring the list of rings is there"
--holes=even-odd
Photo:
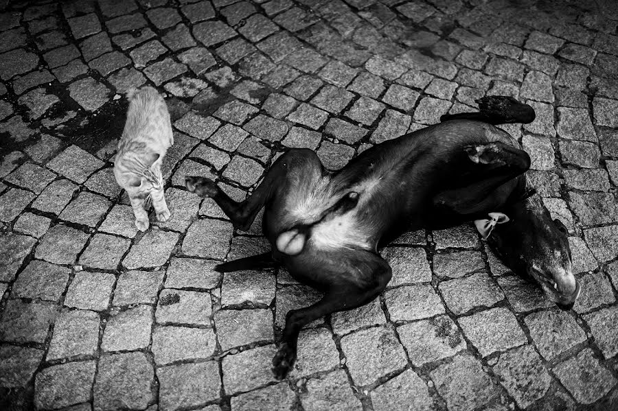
[[[131,200],[135,226],[146,231],[150,224],[144,202],[152,200],[157,220],[170,218],[163,193],[161,162],[174,144],[174,136],[168,106],[157,90],[143,87],[130,91],[127,98],[129,107],[114,161],[114,176]]]

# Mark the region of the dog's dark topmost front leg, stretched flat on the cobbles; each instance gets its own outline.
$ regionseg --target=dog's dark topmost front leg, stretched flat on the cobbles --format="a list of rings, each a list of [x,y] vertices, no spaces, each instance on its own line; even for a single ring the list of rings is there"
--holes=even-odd
[[[477,120],[489,124],[523,123],[534,121],[534,108],[513,97],[488,95],[477,100],[479,113],[445,114],[440,121]]]

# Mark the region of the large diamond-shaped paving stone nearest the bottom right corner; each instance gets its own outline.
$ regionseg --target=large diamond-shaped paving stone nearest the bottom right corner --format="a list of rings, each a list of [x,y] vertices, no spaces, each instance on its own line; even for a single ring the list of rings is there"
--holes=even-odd
[[[553,368],[560,382],[580,403],[589,404],[606,395],[616,379],[593,357],[591,349],[583,349]]]

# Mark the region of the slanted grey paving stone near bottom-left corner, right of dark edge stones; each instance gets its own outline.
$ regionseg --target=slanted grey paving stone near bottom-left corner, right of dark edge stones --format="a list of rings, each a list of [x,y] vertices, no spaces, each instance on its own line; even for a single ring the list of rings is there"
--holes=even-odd
[[[55,409],[89,401],[95,361],[67,362],[44,368],[34,381],[34,404]]]

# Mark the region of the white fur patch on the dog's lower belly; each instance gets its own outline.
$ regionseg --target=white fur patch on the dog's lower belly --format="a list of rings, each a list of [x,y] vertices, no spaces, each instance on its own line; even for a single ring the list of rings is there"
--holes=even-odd
[[[311,242],[317,248],[356,246],[369,248],[367,235],[361,232],[354,211],[316,224],[311,231]]]

